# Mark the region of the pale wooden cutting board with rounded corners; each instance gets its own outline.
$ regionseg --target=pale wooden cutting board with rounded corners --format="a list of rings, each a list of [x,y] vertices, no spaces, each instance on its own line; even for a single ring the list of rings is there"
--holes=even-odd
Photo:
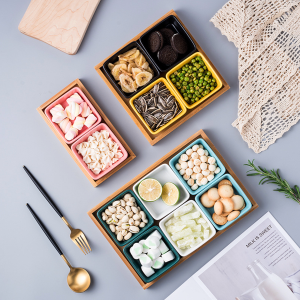
[[[31,0],[18,29],[76,54],[100,0]]]

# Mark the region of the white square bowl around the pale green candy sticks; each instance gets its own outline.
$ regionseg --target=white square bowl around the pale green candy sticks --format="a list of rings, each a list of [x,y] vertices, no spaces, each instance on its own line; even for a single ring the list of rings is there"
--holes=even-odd
[[[176,242],[173,241],[171,239],[170,233],[168,233],[166,231],[166,226],[165,223],[166,221],[168,221],[170,218],[172,218],[174,216],[174,213],[176,210],[180,209],[181,207],[187,205],[188,203],[193,203],[194,208],[189,211],[189,212],[195,212],[195,211],[200,211],[201,213],[201,217],[203,217],[206,222],[209,225],[209,236],[206,239],[203,239],[202,242],[200,242],[199,244],[197,244],[196,246],[189,248],[189,249],[180,249]],[[211,224],[210,220],[208,219],[208,217],[204,214],[204,212],[201,210],[201,208],[197,205],[197,203],[194,200],[188,200],[187,202],[185,202],[184,204],[182,204],[180,207],[178,207],[177,209],[175,209],[172,213],[168,214],[166,217],[164,217],[160,222],[159,222],[159,227],[161,228],[162,232],[165,234],[166,238],[169,240],[169,242],[172,244],[172,246],[176,249],[176,251],[179,253],[179,255],[181,256],[186,256],[188,254],[190,254],[191,252],[193,252],[194,250],[196,250],[198,247],[200,247],[202,244],[204,244],[205,242],[207,242],[207,240],[209,240],[214,234],[215,234],[215,229],[213,227],[213,225]]]

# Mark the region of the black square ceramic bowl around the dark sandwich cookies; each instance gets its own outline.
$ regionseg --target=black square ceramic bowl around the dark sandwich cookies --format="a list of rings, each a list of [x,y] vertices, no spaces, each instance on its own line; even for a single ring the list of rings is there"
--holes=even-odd
[[[187,43],[187,51],[184,54],[179,54],[177,60],[172,63],[172,64],[164,64],[161,63],[158,58],[157,58],[157,52],[152,53],[148,47],[148,37],[149,35],[153,32],[162,28],[169,28],[174,31],[174,33],[179,33],[181,34],[186,43]],[[189,56],[192,52],[196,50],[196,45],[187,33],[187,31],[183,28],[181,23],[177,20],[177,18],[174,15],[169,15],[166,18],[164,18],[162,21],[160,21],[158,24],[156,24],[154,27],[149,29],[147,32],[145,32],[140,38],[139,41],[141,42],[142,46],[145,48],[147,54],[153,59],[155,64],[157,65],[158,69],[161,72],[165,72],[168,69],[170,69],[173,65],[177,64],[180,62],[182,59],[185,57]]]

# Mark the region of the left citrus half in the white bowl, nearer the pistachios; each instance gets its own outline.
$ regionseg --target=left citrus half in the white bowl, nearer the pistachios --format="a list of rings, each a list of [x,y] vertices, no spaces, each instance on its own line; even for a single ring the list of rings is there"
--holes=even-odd
[[[138,194],[144,201],[155,201],[161,196],[161,184],[153,178],[146,178],[138,184]]]

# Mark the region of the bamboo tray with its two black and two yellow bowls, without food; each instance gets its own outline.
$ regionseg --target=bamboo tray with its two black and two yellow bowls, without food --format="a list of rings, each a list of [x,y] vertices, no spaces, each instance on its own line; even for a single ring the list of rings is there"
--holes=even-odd
[[[186,52],[184,54],[178,54],[176,61],[169,65],[163,65],[157,59],[157,54],[151,53],[147,46],[149,34],[155,30],[161,30],[161,28],[171,29],[173,32],[180,34],[184,37],[187,44]],[[113,63],[116,63],[119,55],[122,55],[124,52],[129,51],[134,47],[136,47],[140,51],[140,53],[144,55],[149,67],[153,71],[153,76],[152,79],[145,83],[143,86],[139,86],[135,92],[129,93],[124,92],[117,81],[114,80],[114,77],[110,73],[109,64],[111,65]],[[194,102],[193,104],[189,104],[185,102],[183,97],[180,95],[179,91],[171,81],[170,75],[177,69],[182,68],[185,63],[190,62],[192,58],[195,58],[198,55],[201,56],[207,67],[207,70],[209,70],[212,76],[215,78],[216,87],[214,88],[214,90],[200,98],[198,101]],[[227,84],[227,82],[223,79],[223,77],[211,63],[207,55],[201,49],[199,44],[183,25],[174,10],[170,10],[168,13],[163,15],[153,24],[148,26],[145,30],[137,34],[126,44],[112,53],[109,57],[98,63],[95,66],[95,69],[151,145],[154,145],[161,138],[166,136],[172,130],[177,128],[191,116],[193,116],[210,102],[215,100],[219,95],[229,89],[229,85]],[[133,100],[138,96],[145,94],[147,91],[149,91],[150,88],[153,87],[155,83],[160,81],[162,81],[166,85],[170,93],[175,97],[182,111],[180,112],[180,114],[173,117],[171,121],[168,121],[158,130],[153,132],[151,128],[146,124],[143,117],[134,107]]]

